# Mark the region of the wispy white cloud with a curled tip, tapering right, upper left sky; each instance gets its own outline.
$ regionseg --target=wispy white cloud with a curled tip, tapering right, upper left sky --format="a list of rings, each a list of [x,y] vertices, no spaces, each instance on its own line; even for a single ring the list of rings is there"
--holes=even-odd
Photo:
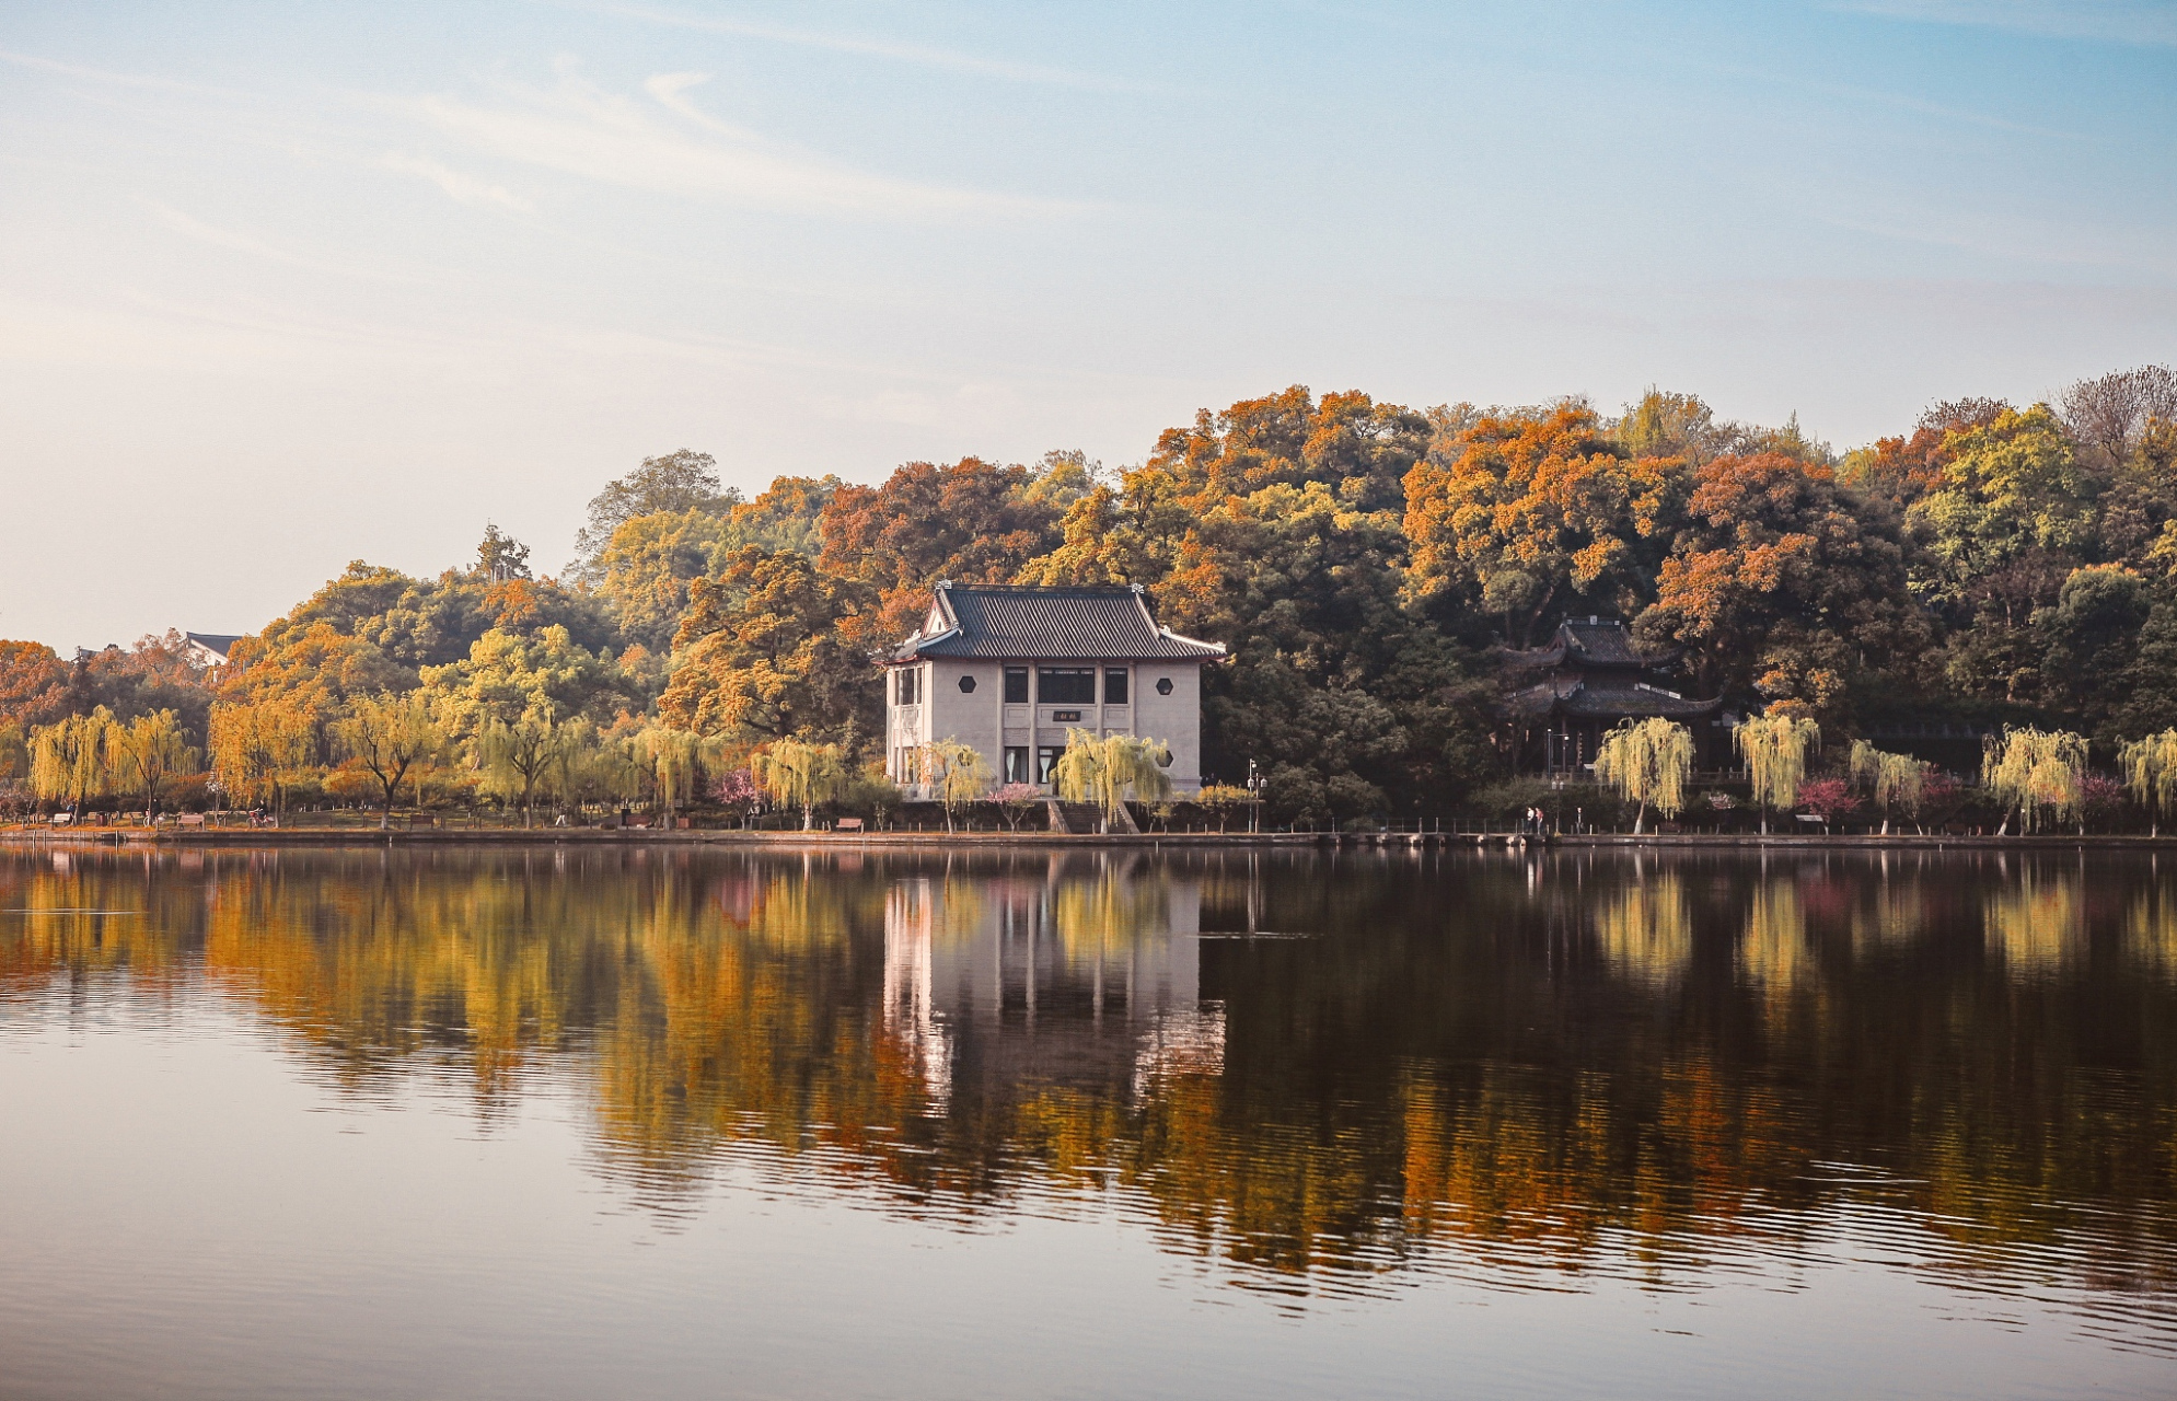
[[[1086,209],[853,170],[708,117],[686,96],[701,80],[703,74],[653,78],[651,104],[564,72],[551,89],[499,85],[490,104],[433,96],[396,98],[392,107],[501,159],[760,209],[903,222],[1043,220]]]

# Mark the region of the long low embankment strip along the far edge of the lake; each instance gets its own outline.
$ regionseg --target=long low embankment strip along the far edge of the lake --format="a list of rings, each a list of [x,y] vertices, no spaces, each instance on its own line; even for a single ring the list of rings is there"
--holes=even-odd
[[[290,829],[0,829],[0,846],[816,846],[816,848],[988,848],[988,846],[1210,846],[1210,848],[1524,848],[1561,846],[1583,851],[2144,851],[2177,848],[2177,835],[1955,835],[1955,833],[1840,833],[1840,835],[1761,835],[1761,833],[1454,833],[1454,831],[1382,831],[1382,833],[1311,833],[1311,831],[1145,831],[1145,833],[1062,833],[1062,831],[614,831],[594,827],[492,827],[492,829],[388,829],[374,827],[290,827]]]

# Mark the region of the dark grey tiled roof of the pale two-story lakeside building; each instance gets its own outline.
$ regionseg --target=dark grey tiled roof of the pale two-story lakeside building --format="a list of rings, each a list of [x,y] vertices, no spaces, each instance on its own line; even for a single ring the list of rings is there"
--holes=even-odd
[[[1147,596],[1130,587],[938,585],[934,613],[923,633],[890,653],[890,661],[1160,661],[1226,655],[1215,642],[1195,642],[1158,627]]]

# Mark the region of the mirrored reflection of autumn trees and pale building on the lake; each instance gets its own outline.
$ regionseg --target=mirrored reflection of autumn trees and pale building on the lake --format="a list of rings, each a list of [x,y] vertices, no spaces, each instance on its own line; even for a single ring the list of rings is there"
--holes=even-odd
[[[0,907],[0,1025],[231,999],[344,1094],[575,1086],[657,1212],[753,1162],[1293,1292],[1698,1288],[1850,1223],[2170,1338],[2147,864],[102,853]]]

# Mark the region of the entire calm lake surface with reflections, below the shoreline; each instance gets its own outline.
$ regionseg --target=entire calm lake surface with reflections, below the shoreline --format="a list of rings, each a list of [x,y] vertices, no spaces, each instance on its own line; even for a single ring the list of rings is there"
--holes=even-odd
[[[2177,1394],[2177,864],[0,853],[0,1394]]]

